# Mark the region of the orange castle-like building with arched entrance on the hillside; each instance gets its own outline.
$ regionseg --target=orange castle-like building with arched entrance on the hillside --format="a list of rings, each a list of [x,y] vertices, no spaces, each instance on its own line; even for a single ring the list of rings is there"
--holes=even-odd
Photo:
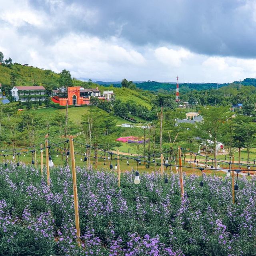
[[[55,93],[58,90],[54,90]],[[82,87],[68,87],[68,98],[60,98],[58,96],[54,96],[54,100],[56,100],[60,106],[66,106],[66,102],[68,101],[68,105],[89,105],[90,97],[97,97],[99,100],[115,100],[115,94],[112,91],[104,91],[103,96],[101,96],[98,87],[96,89],[84,89]]]

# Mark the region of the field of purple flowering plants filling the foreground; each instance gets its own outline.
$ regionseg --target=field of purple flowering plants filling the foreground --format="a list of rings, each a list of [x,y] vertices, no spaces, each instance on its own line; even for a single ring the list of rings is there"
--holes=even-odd
[[[256,178],[158,173],[117,175],[77,167],[81,247],[76,243],[69,167],[46,176],[32,166],[0,166],[0,255],[256,255]],[[45,171],[44,171],[45,173]]]

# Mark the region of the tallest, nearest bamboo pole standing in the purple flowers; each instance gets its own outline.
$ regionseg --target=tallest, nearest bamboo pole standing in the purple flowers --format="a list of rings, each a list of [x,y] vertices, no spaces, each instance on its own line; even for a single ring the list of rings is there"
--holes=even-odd
[[[73,136],[69,137],[69,141],[70,141],[70,154],[71,154],[72,179],[73,179],[73,191],[74,191],[76,236],[77,236],[78,246],[80,247],[81,243],[80,243],[80,227],[79,227],[79,212],[78,212],[78,195],[77,195],[77,186],[76,186],[76,163],[75,163]]]

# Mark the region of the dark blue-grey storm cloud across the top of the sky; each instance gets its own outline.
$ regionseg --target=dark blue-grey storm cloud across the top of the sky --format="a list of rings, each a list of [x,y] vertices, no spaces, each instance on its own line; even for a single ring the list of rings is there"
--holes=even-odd
[[[72,31],[116,36],[136,46],[168,43],[200,54],[256,56],[254,1],[31,0],[30,4],[48,16],[51,27],[33,30],[24,25],[20,31],[42,33],[48,40]]]

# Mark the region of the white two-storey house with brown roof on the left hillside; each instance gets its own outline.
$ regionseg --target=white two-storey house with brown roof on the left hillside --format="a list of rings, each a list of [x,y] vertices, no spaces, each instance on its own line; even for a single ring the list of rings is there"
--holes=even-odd
[[[15,86],[10,90],[14,100],[31,101],[42,100],[46,98],[44,86]]]

